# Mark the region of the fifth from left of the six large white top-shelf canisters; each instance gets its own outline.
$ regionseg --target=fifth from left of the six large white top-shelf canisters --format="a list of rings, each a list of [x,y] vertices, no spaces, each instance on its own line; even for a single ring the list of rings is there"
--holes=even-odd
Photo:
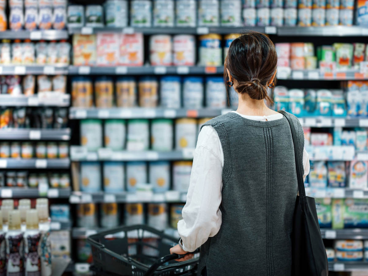
[[[219,25],[219,0],[198,1],[198,26]]]

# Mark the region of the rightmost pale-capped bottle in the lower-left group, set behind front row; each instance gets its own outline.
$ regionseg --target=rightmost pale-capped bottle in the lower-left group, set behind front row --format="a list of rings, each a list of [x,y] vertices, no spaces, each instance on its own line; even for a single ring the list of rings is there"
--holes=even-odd
[[[38,227],[41,233],[40,238],[40,258],[41,275],[50,276],[51,268],[51,244],[50,244],[50,220],[49,201],[47,198],[36,199],[36,209],[38,212]]]

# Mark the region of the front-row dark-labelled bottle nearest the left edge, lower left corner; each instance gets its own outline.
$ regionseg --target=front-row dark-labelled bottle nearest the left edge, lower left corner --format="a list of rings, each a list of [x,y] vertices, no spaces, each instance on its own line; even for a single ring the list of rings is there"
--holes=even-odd
[[[10,210],[8,215],[8,232],[6,240],[7,276],[23,275],[23,235],[19,210]]]

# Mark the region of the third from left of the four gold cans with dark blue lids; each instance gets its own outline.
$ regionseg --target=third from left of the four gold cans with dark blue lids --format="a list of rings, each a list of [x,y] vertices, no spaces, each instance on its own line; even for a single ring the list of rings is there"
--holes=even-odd
[[[137,86],[131,77],[118,78],[115,83],[117,107],[133,107],[137,102]]]

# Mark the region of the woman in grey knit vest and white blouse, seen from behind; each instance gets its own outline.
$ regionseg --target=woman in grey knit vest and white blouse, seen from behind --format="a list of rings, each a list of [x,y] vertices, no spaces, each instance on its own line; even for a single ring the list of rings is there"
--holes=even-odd
[[[275,46],[261,33],[245,33],[230,45],[224,74],[239,94],[238,109],[208,121],[199,133],[178,222],[181,240],[170,249],[185,254],[201,247],[198,275],[291,275],[294,146],[286,118],[265,104],[272,102],[267,90],[276,64]],[[304,134],[292,119],[305,179]]]

